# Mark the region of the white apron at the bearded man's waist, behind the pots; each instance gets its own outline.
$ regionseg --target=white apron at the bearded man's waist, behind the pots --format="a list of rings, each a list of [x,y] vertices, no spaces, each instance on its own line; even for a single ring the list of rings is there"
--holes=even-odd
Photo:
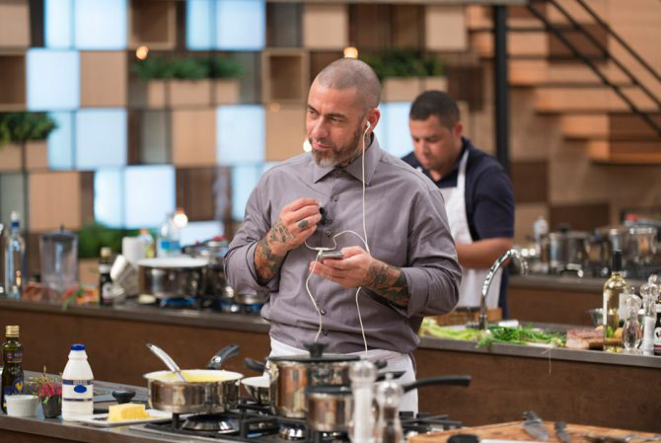
[[[293,355],[304,355],[308,351],[289,346],[271,337],[271,354],[269,357],[291,357]],[[382,369],[386,372],[404,371],[404,374],[395,380],[399,384],[408,384],[415,381],[415,371],[411,357],[407,354],[401,354],[395,351],[386,351],[382,349],[370,349],[369,351],[352,352],[349,355],[359,355],[371,362],[385,360],[388,365]],[[407,392],[402,397],[399,404],[400,411],[411,411],[418,413],[418,391],[416,389]]]

